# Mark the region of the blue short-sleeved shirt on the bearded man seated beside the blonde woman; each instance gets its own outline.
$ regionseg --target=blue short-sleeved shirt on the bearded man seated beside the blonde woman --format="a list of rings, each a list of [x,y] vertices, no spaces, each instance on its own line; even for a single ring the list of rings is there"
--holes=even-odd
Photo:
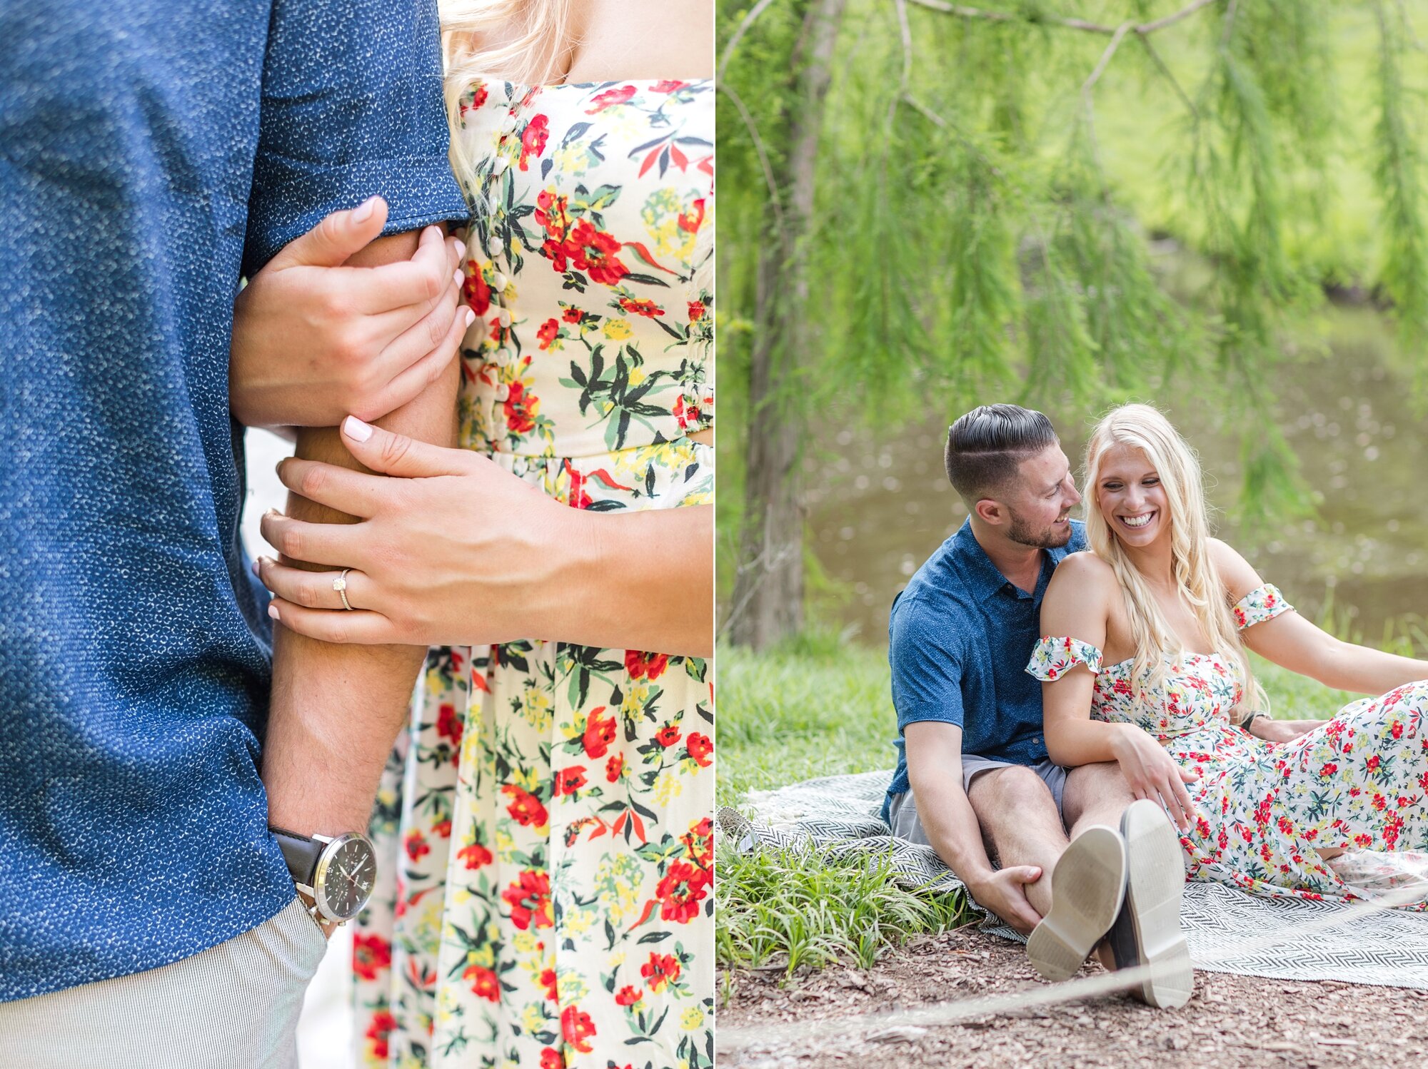
[[[1041,551],[1041,577],[1027,594],[997,571],[968,520],[917,569],[888,619],[898,734],[890,798],[908,791],[902,732],[918,721],[961,726],[964,754],[1014,765],[1047,759],[1041,684],[1027,675],[1027,662],[1041,637],[1051,572],[1084,548],[1085,525],[1072,520],[1071,541]]]

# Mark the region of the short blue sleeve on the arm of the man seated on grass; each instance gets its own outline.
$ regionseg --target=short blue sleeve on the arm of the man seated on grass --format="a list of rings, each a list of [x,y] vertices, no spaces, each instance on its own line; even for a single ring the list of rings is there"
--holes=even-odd
[[[898,598],[888,628],[897,729],[918,721],[962,726],[962,667],[957,634],[918,599]]]

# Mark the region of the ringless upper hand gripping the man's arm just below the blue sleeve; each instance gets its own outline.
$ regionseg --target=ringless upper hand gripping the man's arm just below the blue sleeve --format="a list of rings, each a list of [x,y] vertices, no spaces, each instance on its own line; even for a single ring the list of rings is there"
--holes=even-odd
[[[440,227],[410,260],[344,267],[381,234],[387,204],[337,211],[286,245],[233,303],[228,398],[247,427],[376,420],[434,382],[476,313],[460,304],[464,254]]]

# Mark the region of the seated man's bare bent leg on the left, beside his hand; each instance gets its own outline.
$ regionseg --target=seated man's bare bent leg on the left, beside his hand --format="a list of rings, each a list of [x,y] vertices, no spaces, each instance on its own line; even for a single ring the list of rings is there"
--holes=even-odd
[[[1030,768],[1008,765],[972,779],[967,801],[1001,868],[1041,869],[1041,879],[1027,883],[1025,892],[1031,908],[1045,916],[1051,909],[1051,871],[1068,845],[1051,789]]]

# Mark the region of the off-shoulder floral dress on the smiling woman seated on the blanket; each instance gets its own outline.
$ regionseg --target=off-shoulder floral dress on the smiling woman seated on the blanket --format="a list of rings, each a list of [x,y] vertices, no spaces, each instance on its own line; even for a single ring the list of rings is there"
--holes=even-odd
[[[1240,628],[1292,607],[1264,585],[1234,607]],[[1131,661],[1102,667],[1101,651],[1045,637],[1027,671],[1060,679],[1075,665],[1095,674],[1091,716],[1134,724],[1200,779],[1185,789],[1200,818],[1181,835],[1188,879],[1231,883],[1257,895],[1364,898],[1318,849],[1368,855],[1428,848],[1428,682],[1345,705],[1291,742],[1265,742],[1231,726],[1240,671],[1220,654],[1182,652],[1164,682],[1131,678]],[[1362,863],[1354,871],[1365,869]],[[1428,896],[1425,896],[1428,898]],[[1428,909],[1428,901],[1411,903]]]

